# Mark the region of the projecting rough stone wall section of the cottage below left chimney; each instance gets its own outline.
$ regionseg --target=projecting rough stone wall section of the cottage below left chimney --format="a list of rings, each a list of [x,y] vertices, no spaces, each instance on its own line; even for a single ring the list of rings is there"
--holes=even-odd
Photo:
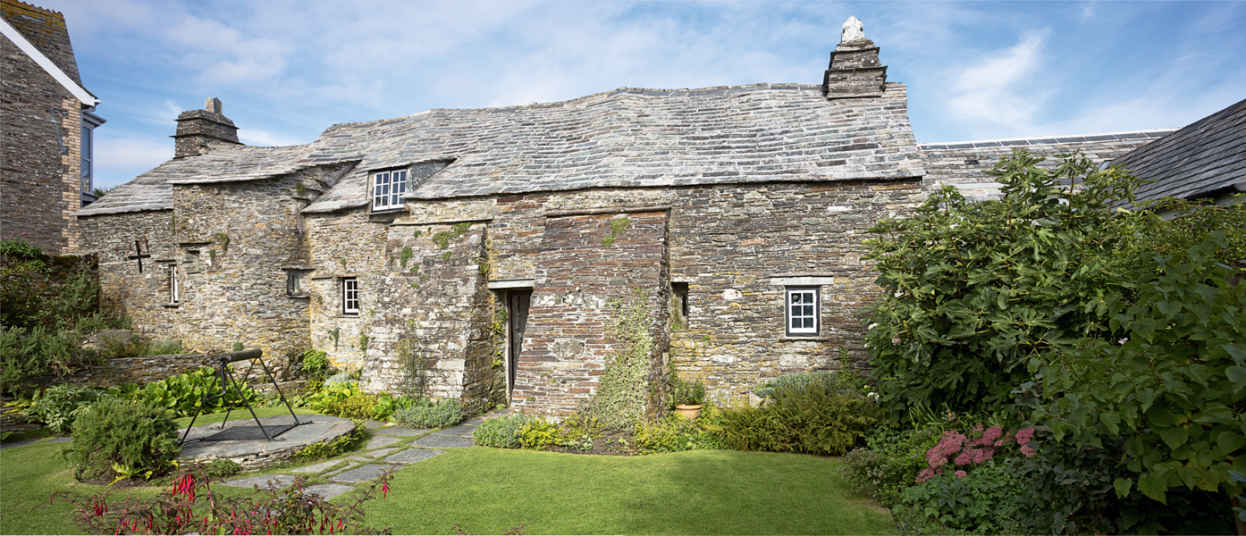
[[[308,299],[289,295],[287,270],[305,258],[300,175],[264,181],[174,184],[178,338],[193,350],[264,350],[284,368],[305,350]],[[167,269],[167,264],[163,266]]]

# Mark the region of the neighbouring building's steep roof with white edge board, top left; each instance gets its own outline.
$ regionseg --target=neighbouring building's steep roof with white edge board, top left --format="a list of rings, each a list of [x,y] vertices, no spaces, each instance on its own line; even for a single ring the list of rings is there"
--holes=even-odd
[[[0,0],[0,34],[86,106],[100,100],[82,87],[65,16],[19,0]]]

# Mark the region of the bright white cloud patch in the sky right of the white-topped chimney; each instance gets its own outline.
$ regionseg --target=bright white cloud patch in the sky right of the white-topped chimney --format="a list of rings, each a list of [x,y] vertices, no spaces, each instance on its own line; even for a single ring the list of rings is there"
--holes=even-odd
[[[1045,30],[1028,32],[1017,45],[954,71],[948,108],[962,121],[1025,128],[1045,100],[1030,80],[1040,66],[1045,36]]]

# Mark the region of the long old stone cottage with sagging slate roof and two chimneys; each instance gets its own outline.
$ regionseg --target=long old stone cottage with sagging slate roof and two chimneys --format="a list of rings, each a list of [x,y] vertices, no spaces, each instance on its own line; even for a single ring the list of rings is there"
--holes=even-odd
[[[594,395],[621,304],[645,312],[653,385],[674,369],[741,401],[850,366],[877,293],[866,229],[922,201],[930,162],[972,181],[944,165],[972,148],[917,146],[855,19],[820,86],[430,110],[294,147],[234,132],[219,101],[182,113],[173,160],[80,213],[135,327],[551,415]]]

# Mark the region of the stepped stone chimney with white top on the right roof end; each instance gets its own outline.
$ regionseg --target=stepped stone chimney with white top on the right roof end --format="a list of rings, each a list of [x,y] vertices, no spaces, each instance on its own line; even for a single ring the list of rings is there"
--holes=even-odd
[[[861,20],[850,16],[840,30],[840,45],[822,75],[826,98],[877,97],[887,82],[887,67],[878,64],[878,47],[865,39]]]

